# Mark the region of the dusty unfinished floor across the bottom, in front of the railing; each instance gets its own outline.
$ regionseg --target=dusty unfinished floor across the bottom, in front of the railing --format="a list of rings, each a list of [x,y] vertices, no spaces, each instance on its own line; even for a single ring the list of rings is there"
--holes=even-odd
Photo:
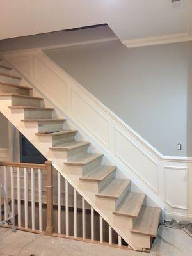
[[[188,256],[192,255],[192,238],[183,230],[160,226],[150,253],[127,251],[42,234],[0,228],[0,256]]]

